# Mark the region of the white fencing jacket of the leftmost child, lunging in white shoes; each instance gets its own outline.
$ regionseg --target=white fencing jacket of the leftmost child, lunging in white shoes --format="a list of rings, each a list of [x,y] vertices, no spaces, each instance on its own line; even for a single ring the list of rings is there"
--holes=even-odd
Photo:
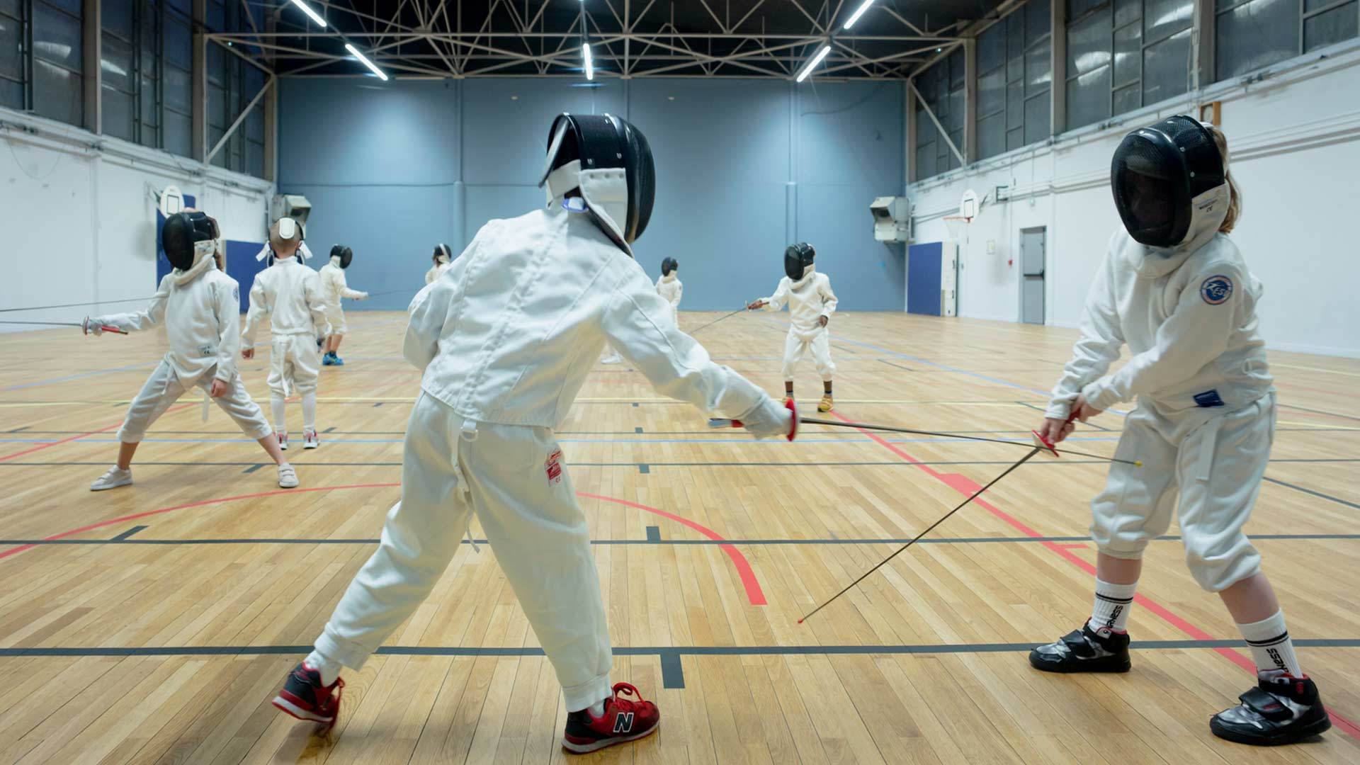
[[[124,332],[165,323],[170,340],[165,361],[186,388],[214,366],[218,368],[214,377],[223,382],[237,376],[241,293],[237,280],[218,271],[211,256],[203,256],[189,271],[166,274],[146,310],[110,313],[91,321]]]

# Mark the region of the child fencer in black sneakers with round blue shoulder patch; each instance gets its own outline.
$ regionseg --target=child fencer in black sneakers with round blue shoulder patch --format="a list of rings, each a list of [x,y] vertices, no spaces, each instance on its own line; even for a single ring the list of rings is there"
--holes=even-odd
[[[1213,716],[1214,735],[1248,745],[1299,740],[1331,723],[1295,655],[1284,611],[1243,535],[1270,456],[1276,395],[1257,331],[1261,283],[1228,238],[1242,195],[1223,132],[1176,116],[1129,133],[1111,186],[1123,227],[1110,237],[1081,317],[1081,339],[1053,391],[1043,434],[1057,442],[1136,402],[1091,502],[1099,549],[1095,606],[1083,626],[1030,653],[1050,672],[1126,672],[1126,623],[1148,542],[1180,519],[1195,581],[1228,607],[1257,686]],[[1123,344],[1133,358],[1107,370]],[[1179,505],[1179,506],[1178,506]]]

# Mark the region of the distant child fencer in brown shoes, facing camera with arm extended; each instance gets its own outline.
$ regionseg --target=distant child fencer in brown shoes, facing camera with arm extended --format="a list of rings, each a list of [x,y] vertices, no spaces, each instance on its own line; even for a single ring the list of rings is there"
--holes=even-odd
[[[821,376],[821,402],[817,411],[831,411],[831,377],[836,365],[831,361],[831,336],[827,323],[836,312],[836,294],[831,291],[831,278],[817,272],[812,260],[817,252],[808,242],[798,242],[783,252],[783,272],[774,294],[760,298],[747,309],[779,310],[789,304],[789,335],[783,340],[783,392],[793,397],[793,372],[802,354],[812,348],[812,362]]]

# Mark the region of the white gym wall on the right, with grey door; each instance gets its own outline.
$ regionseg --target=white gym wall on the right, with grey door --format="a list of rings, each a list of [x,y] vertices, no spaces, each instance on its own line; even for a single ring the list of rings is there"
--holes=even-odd
[[[1130,129],[1193,103],[1221,101],[1231,169],[1244,197],[1232,238],[1265,283],[1261,328],[1272,347],[1360,357],[1360,45],[1350,42],[1123,114],[964,170],[913,184],[915,241],[949,238],[964,189],[989,196],[960,235],[959,313],[1017,321],[1020,229],[1047,227],[1047,323],[1074,327],[1110,233],[1110,157]],[[996,201],[996,186],[1010,188]],[[996,253],[987,255],[987,241]],[[1008,260],[1015,259],[1013,264]]]

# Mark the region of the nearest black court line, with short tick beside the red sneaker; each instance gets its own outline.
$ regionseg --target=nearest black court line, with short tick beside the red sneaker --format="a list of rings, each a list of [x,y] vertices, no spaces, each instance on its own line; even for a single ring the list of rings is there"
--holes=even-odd
[[[967,642],[922,645],[620,645],[615,656],[656,656],[661,660],[662,687],[684,687],[684,656],[898,656],[948,653],[1020,653],[1039,645],[1034,642]],[[1360,648],[1356,638],[1295,638],[1297,648]],[[1193,651],[1205,648],[1240,648],[1242,640],[1148,640],[1129,645],[1133,651]],[[310,645],[147,645],[137,648],[35,647],[0,648],[0,657],[86,657],[86,656],[306,656]],[[541,648],[495,648],[458,645],[384,645],[379,656],[544,656]]]

